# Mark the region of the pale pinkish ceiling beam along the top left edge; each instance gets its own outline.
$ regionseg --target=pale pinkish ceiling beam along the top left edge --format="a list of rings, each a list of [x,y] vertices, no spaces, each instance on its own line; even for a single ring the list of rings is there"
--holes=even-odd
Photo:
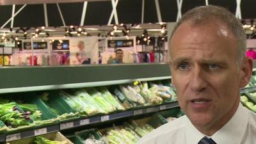
[[[47,4],[47,3],[78,3],[84,1],[111,1],[111,0],[0,0],[0,5],[12,4]]]

